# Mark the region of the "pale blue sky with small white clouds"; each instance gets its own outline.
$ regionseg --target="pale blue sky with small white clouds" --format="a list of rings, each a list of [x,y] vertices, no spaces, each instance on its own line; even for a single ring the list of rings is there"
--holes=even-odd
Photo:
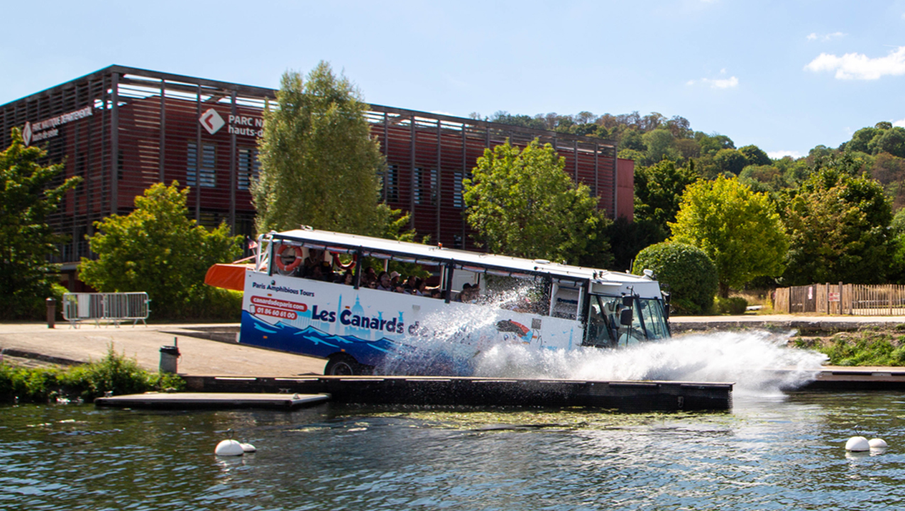
[[[276,88],[325,60],[376,104],[656,111],[771,156],[905,126],[905,0],[5,4],[0,104],[110,64]]]

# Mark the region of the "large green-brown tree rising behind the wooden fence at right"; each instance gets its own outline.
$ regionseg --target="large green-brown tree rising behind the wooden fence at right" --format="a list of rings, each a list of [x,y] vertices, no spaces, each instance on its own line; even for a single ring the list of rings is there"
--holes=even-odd
[[[879,183],[843,166],[820,168],[785,201],[785,285],[872,284],[885,277],[889,199]]]

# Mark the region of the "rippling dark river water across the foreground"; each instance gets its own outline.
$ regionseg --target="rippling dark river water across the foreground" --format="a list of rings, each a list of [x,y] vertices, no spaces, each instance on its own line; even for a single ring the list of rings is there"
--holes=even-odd
[[[295,412],[6,406],[0,508],[905,506],[905,394],[741,388],[748,390],[736,394],[731,411],[709,413],[331,403]],[[228,429],[257,452],[215,456]],[[856,432],[890,448],[847,453],[845,441]]]

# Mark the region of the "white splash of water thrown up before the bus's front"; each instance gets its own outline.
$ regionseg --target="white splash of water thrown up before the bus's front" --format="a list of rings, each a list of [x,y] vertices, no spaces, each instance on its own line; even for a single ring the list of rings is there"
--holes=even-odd
[[[760,330],[691,334],[620,350],[538,351],[494,345],[479,355],[475,375],[735,383],[737,395],[779,394],[812,381],[826,358],[787,348],[791,334]]]

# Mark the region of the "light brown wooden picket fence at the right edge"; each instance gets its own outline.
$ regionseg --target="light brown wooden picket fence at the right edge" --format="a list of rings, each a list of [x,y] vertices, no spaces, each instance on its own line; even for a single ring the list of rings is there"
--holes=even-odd
[[[776,312],[905,316],[905,286],[883,284],[812,284],[779,288],[773,297]]]

